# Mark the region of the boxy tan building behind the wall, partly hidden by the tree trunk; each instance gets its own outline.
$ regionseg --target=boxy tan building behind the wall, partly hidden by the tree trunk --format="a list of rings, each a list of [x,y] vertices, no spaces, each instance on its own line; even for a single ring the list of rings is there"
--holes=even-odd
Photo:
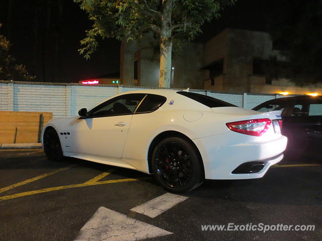
[[[122,84],[158,86],[159,64],[151,39],[147,37],[140,47],[122,43]],[[172,62],[171,87],[250,93],[322,93],[322,85],[298,87],[287,79],[269,78],[263,66],[272,57],[286,61],[273,49],[268,33],[225,29],[206,43],[189,43],[184,47]]]

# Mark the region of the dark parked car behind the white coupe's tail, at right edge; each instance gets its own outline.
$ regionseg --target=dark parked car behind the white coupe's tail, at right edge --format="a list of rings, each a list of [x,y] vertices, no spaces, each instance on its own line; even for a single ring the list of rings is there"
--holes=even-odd
[[[320,156],[322,147],[322,96],[293,96],[266,101],[253,110],[282,110],[282,134],[287,152]]]

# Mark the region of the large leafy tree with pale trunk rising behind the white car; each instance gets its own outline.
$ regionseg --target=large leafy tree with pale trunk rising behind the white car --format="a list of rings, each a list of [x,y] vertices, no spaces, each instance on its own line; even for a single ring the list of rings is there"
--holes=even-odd
[[[170,87],[174,43],[192,40],[201,33],[205,21],[218,18],[223,6],[235,0],[74,0],[94,21],[85,47],[85,58],[98,47],[97,37],[139,42],[151,31],[159,43],[159,87]]]

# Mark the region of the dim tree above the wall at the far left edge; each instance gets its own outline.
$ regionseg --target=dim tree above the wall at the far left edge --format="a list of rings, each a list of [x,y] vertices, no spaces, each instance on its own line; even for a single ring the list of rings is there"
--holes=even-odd
[[[0,28],[2,24],[0,23]],[[1,80],[32,80],[23,64],[15,64],[15,58],[9,54],[10,42],[0,35],[0,79]]]

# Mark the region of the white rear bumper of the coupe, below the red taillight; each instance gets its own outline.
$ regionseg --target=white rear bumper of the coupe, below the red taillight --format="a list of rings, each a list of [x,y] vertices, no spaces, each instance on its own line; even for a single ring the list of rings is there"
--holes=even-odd
[[[287,144],[284,136],[265,140],[233,132],[193,141],[202,156],[206,179],[261,178],[283,159]],[[250,162],[264,165],[253,173],[247,172]]]

